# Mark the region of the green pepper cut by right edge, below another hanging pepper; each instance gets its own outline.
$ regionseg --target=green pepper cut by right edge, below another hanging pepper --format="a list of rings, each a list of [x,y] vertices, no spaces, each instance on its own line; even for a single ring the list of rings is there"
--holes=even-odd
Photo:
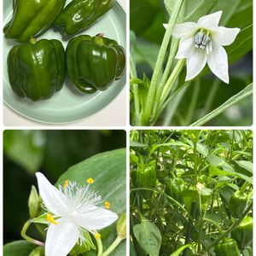
[[[250,216],[244,218],[238,228],[231,232],[231,237],[236,240],[241,250],[244,249],[253,241],[253,218]]]

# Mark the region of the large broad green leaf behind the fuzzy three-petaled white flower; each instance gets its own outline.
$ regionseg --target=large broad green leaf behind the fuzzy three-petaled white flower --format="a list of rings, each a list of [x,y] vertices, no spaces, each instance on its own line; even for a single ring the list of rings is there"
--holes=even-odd
[[[57,183],[63,184],[65,180],[69,180],[84,185],[89,177],[95,180],[95,183],[90,185],[90,189],[98,191],[103,201],[110,202],[110,210],[121,216],[126,207],[125,148],[96,154],[72,166],[61,175]],[[101,235],[103,247],[106,249],[117,236],[116,224],[101,230]],[[88,255],[96,255],[96,252],[90,251]],[[125,241],[122,241],[111,254],[111,256],[119,255],[125,255]]]

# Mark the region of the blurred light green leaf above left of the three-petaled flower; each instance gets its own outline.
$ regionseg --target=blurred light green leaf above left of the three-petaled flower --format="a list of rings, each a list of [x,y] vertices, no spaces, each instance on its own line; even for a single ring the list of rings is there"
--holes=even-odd
[[[44,131],[7,130],[3,132],[3,150],[9,159],[28,172],[37,172],[43,161]]]

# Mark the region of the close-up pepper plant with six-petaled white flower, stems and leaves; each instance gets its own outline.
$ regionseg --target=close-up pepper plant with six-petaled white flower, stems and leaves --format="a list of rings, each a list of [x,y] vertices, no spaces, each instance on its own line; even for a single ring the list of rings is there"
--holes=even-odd
[[[252,0],[131,0],[131,125],[251,125],[252,28]]]

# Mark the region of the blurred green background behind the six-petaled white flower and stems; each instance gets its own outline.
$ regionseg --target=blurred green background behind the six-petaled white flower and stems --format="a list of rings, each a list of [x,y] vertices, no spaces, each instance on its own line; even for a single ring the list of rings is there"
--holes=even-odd
[[[172,6],[172,1],[166,0],[166,3]],[[200,79],[170,102],[156,125],[189,125],[253,81],[253,0],[191,0],[186,4],[185,21],[196,21],[201,15],[223,10],[220,25],[241,28],[235,43],[225,48],[230,62],[230,84],[215,79],[205,68]],[[131,53],[137,64],[138,77],[143,79],[145,73],[151,78],[165,33],[162,24],[167,23],[169,15],[162,0],[131,0],[130,8]],[[178,86],[184,84],[185,73],[184,68]],[[252,125],[252,106],[253,96],[247,96],[206,125]]]

